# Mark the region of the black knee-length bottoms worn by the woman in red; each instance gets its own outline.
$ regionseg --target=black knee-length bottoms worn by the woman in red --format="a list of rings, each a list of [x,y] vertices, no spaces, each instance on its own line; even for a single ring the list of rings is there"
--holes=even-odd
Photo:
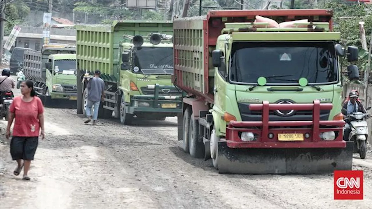
[[[13,136],[10,141],[10,155],[13,160],[33,160],[36,148],[38,148],[39,137]]]

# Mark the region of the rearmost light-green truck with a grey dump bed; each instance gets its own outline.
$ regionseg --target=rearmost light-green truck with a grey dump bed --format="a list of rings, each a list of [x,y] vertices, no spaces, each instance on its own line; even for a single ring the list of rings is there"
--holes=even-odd
[[[76,47],[44,45],[41,51],[25,51],[23,69],[27,80],[45,106],[76,108]]]

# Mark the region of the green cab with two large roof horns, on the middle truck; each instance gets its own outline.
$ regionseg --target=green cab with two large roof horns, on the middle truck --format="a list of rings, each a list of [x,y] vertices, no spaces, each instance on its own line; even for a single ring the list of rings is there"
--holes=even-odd
[[[144,38],[147,39],[145,42]],[[171,82],[171,38],[170,35],[158,33],[137,35],[129,37],[130,42],[121,44],[120,89],[124,95],[125,105],[122,108],[126,109],[124,118],[127,122],[133,115],[137,118],[164,120],[167,116],[177,116],[181,112],[182,90]]]

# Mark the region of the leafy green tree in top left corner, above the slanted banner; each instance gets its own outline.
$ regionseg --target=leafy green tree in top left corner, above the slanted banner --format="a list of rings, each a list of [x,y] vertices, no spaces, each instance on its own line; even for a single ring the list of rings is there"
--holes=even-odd
[[[30,13],[30,7],[16,0],[5,6],[4,13],[7,22],[4,25],[4,36],[8,36],[15,25],[19,25]]]

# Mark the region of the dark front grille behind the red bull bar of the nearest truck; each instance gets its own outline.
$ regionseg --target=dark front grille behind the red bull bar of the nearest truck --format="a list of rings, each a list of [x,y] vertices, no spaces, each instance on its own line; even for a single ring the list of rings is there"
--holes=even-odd
[[[261,121],[262,111],[249,110],[249,103],[239,103],[238,108],[243,121]],[[320,110],[320,120],[328,120],[330,110]],[[311,110],[297,110],[292,116],[279,116],[274,111],[269,112],[270,121],[283,121],[283,120],[312,120]]]

